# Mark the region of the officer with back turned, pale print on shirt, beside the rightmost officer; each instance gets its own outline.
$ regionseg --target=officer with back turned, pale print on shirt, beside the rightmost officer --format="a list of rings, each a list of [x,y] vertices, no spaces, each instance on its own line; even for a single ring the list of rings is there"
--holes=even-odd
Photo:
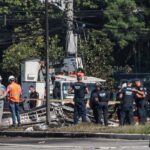
[[[133,102],[134,102],[134,89],[132,82],[127,83],[127,87],[123,88],[120,92],[121,109],[120,109],[120,126],[125,124],[127,119],[128,124],[133,124]]]

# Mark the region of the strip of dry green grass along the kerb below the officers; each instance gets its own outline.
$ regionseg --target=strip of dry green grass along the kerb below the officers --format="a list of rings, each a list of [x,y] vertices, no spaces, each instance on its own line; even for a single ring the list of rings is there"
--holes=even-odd
[[[81,133],[127,133],[127,134],[150,134],[150,125],[105,127],[95,124],[82,123],[70,127],[49,128],[52,132],[81,132]]]

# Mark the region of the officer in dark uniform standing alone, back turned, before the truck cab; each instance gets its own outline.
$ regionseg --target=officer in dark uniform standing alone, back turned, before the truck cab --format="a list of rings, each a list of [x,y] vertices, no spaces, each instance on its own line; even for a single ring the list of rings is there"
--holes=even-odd
[[[82,117],[82,122],[87,122],[86,119],[86,104],[85,104],[85,94],[89,93],[88,88],[85,83],[82,82],[82,77],[77,76],[77,82],[74,83],[69,89],[69,93],[74,91],[74,124],[78,123],[80,117]]]

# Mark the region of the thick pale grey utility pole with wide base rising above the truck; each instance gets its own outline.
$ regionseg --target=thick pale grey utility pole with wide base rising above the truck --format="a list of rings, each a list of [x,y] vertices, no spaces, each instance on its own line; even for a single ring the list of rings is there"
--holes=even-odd
[[[62,71],[77,71],[78,68],[83,68],[82,59],[77,56],[77,35],[74,34],[74,15],[73,15],[74,0],[66,0],[66,57],[63,61]]]

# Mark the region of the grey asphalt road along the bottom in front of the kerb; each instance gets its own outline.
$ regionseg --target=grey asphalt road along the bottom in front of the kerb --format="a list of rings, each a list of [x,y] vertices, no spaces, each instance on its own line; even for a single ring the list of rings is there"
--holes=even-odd
[[[0,150],[150,150],[149,141],[102,138],[0,137]]]

